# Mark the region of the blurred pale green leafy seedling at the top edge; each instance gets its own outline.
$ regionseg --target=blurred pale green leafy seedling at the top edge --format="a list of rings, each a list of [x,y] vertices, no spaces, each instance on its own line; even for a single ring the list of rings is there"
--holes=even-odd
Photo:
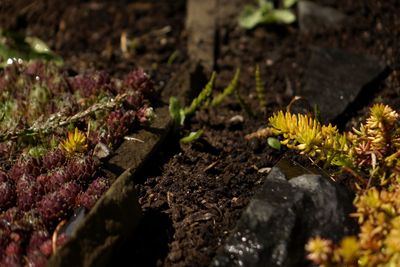
[[[247,30],[259,24],[291,24],[296,16],[290,8],[297,0],[282,1],[282,8],[276,8],[272,1],[258,0],[258,7],[246,5],[239,16],[239,25]]]

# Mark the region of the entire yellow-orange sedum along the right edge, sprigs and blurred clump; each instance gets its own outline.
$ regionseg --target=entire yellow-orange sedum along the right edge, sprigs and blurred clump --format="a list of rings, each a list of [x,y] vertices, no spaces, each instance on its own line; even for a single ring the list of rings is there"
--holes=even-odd
[[[400,128],[399,114],[375,104],[359,129],[340,133],[310,115],[278,112],[271,127],[248,137],[280,135],[281,144],[327,167],[341,167],[356,190],[351,214],[357,236],[339,244],[319,236],[306,244],[307,258],[322,267],[400,266]]]

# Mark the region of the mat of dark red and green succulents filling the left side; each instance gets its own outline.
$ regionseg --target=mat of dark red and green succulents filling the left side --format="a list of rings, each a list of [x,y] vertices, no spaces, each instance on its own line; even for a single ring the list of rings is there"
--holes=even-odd
[[[104,71],[68,77],[32,61],[5,66],[0,91],[0,266],[46,266],[67,240],[59,234],[53,244],[56,226],[110,186],[95,148],[111,150],[151,121],[154,86],[140,69],[123,80]]]

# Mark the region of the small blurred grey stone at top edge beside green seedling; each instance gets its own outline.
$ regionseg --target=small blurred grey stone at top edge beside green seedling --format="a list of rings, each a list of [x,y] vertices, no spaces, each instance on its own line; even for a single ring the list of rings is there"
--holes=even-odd
[[[340,11],[314,2],[301,0],[297,4],[300,31],[322,33],[344,26],[347,16]]]

